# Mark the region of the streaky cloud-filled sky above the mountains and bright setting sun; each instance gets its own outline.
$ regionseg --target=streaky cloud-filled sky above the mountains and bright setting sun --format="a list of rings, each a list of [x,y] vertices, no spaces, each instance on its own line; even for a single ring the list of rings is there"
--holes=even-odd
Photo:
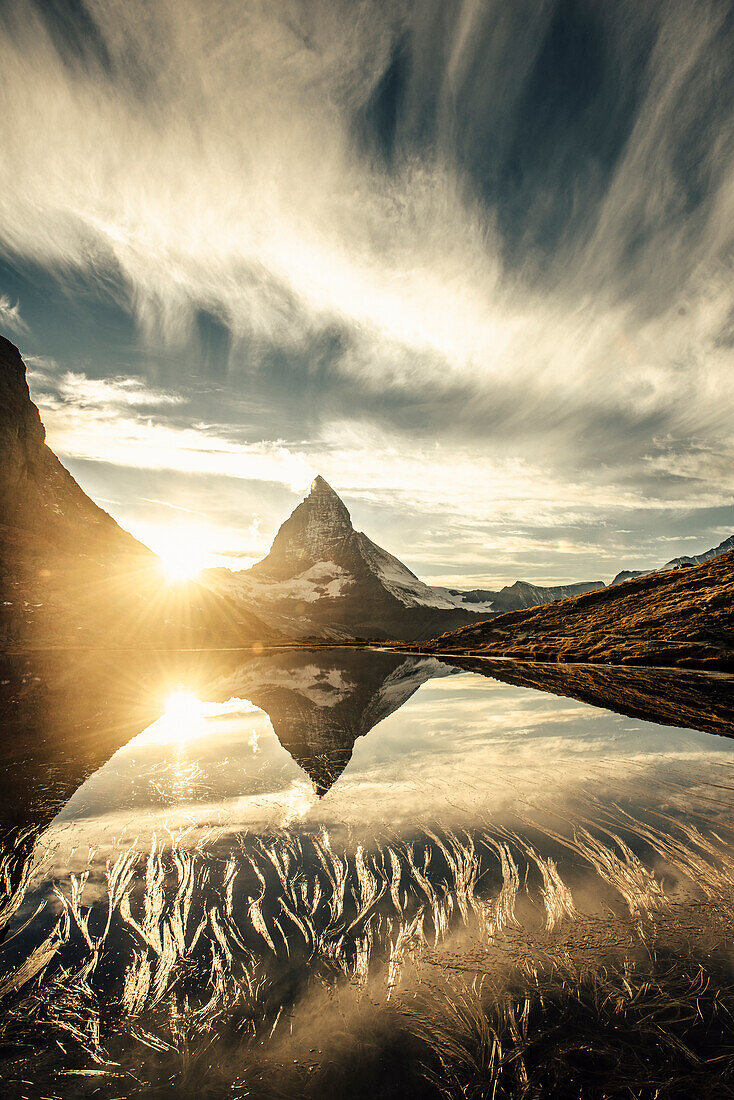
[[[734,4],[0,0],[0,331],[163,553],[316,473],[423,579],[734,531]]]

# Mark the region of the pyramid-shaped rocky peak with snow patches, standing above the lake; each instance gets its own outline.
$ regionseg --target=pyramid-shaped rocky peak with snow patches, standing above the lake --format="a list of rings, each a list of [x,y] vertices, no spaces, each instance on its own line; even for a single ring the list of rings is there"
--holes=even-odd
[[[499,592],[426,584],[407,565],[355,531],[324,477],[280,528],[250,570],[210,570],[205,583],[258,609],[294,637],[420,639],[504,610],[577,595],[602,582],[543,588],[516,582]]]

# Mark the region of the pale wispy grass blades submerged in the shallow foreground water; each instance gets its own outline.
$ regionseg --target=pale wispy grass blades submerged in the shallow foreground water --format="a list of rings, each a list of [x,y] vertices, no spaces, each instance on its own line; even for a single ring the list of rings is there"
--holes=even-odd
[[[37,903],[7,846],[7,1094],[734,1096],[730,839],[590,814],[153,837]]]

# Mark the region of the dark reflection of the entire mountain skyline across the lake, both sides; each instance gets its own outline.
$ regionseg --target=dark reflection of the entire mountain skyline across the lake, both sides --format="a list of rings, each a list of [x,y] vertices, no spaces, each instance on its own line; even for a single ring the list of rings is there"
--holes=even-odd
[[[471,660],[463,668],[636,719],[722,735],[734,730],[734,689],[726,676]],[[348,648],[4,657],[0,828],[43,828],[89,777],[164,715],[185,739],[198,700],[240,700],[263,712],[322,798],[343,774],[359,738],[394,715],[421,684],[457,672],[454,664],[434,658]],[[179,700],[173,712],[172,697]],[[219,750],[212,744],[213,757]],[[227,784],[232,794],[237,782],[232,773]]]

